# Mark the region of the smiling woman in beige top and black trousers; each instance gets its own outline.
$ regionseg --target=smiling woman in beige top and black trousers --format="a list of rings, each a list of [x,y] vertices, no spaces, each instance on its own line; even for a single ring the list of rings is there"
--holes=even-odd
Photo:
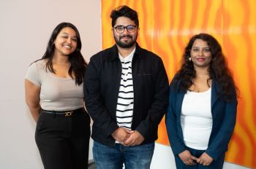
[[[26,103],[37,122],[36,143],[47,169],[87,168],[90,117],[83,104],[86,62],[75,25],[53,30],[42,59],[26,72]]]

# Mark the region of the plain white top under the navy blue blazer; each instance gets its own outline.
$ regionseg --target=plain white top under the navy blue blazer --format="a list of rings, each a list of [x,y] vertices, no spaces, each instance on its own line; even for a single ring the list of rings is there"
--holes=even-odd
[[[181,127],[186,146],[208,148],[212,129],[211,88],[203,93],[187,91],[181,107]]]

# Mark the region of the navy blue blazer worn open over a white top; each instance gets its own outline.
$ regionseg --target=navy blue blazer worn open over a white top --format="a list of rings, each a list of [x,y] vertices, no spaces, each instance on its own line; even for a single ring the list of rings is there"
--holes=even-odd
[[[231,87],[230,87],[231,88]],[[236,89],[233,91],[233,99],[230,102],[223,101],[218,96],[217,82],[211,85],[211,114],[213,125],[208,149],[206,153],[217,160],[220,154],[227,152],[227,145],[236,125],[237,99]],[[184,152],[185,144],[181,129],[181,106],[185,93],[178,92],[173,82],[170,84],[169,106],[165,117],[167,134],[173,154]]]

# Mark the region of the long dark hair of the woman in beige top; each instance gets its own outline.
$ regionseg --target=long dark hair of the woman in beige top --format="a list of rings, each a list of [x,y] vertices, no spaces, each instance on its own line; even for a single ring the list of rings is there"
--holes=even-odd
[[[86,71],[86,61],[83,58],[83,55],[81,54],[80,50],[82,48],[82,43],[80,39],[80,34],[78,32],[78,28],[75,27],[72,23],[60,23],[56,26],[56,28],[53,30],[53,33],[50,36],[50,40],[48,42],[48,47],[45,51],[45,54],[42,56],[39,60],[45,60],[46,61],[46,71],[50,71],[53,74],[55,74],[55,71],[53,70],[53,54],[55,50],[55,44],[54,41],[56,40],[56,37],[58,36],[59,32],[63,28],[72,28],[75,31],[75,34],[77,36],[77,48],[74,52],[72,52],[69,55],[69,76],[72,77],[72,72],[75,74],[75,84],[80,85],[83,82],[83,76]]]

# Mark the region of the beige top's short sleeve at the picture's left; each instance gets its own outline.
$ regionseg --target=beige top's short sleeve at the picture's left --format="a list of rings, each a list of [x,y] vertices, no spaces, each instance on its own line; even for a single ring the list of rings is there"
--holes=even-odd
[[[28,79],[30,82],[34,83],[37,86],[41,86],[39,70],[37,68],[37,63],[32,63],[28,70],[26,71],[25,79]]]

